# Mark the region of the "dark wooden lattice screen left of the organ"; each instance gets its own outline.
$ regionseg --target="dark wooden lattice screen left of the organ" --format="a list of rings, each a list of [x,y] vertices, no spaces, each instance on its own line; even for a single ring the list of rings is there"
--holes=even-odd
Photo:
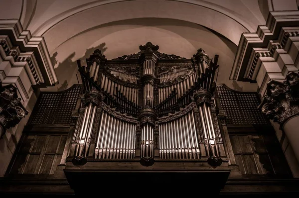
[[[69,124],[81,87],[63,92],[42,92],[35,104],[30,124]]]

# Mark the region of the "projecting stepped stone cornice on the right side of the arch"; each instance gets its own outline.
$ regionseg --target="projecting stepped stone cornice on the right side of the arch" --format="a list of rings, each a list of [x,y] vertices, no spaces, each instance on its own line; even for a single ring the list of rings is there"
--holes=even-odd
[[[256,33],[243,33],[230,74],[230,80],[247,81],[244,74],[254,48],[267,48],[269,41],[279,40],[283,27],[299,27],[299,10],[272,11],[266,25],[259,25]]]

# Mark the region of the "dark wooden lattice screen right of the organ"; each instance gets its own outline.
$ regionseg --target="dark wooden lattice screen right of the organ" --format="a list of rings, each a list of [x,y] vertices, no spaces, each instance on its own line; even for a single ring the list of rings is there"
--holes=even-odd
[[[221,107],[225,110],[228,124],[267,124],[258,109],[260,99],[257,93],[240,93],[217,85]]]

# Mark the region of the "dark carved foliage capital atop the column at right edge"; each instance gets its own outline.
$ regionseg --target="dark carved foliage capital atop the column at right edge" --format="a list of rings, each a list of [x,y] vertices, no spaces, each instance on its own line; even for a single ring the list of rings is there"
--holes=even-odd
[[[259,107],[268,118],[279,124],[283,124],[288,118],[299,114],[299,74],[289,73],[283,83],[269,81],[267,93]]]

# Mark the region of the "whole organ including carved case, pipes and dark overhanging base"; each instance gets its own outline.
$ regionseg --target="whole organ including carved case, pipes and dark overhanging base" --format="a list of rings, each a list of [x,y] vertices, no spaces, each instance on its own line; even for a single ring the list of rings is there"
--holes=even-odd
[[[214,97],[218,56],[158,48],[148,42],[112,60],[95,50],[87,66],[77,61],[83,95],[64,170],[77,194],[119,182],[141,192],[223,188],[230,171]]]

